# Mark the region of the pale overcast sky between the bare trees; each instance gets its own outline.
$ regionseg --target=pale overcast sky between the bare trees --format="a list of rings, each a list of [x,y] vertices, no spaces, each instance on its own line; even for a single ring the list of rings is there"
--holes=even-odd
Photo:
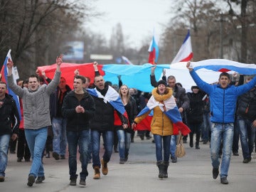
[[[112,28],[122,24],[124,37],[129,38],[131,47],[138,48],[145,37],[153,35],[160,38],[165,26],[171,18],[173,0],[97,0],[94,4],[97,11],[105,12],[102,19],[94,19],[90,23],[93,32],[104,34],[110,39]],[[150,43],[151,39],[149,39]]]

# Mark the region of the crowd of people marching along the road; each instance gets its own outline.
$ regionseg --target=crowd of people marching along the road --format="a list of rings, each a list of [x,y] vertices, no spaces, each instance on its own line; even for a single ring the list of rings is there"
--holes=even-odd
[[[60,65],[63,55],[56,58],[56,71],[53,80],[44,72],[31,75],[20,85],[14,83],[9,59],[8,85],[20,98],[21,118],[14,99],[6,93],[7,85],[0,82],[0,181],[5,180],[8,151],[15,152],[17,161],[31,161],[28,186],[42,183],[46,177],[43,169],[43,156],[66,158],[68,146],[68,166],[70,186],[77,185],[77,153],[80,154],[80,182],[86,185],[87,166],[92,163],[94,179],[100,173],[108,174],[113,146],[119,153],[119,164],[129,158],[130,144],[134,142],[134,132],[144,139],[151,139],[156,146],[156,166],[159,178],[168,178],[169,161],[177,162],[176,141],[179,132],[183,142],[193,148],[193,134],[196,134],[195,148],[210,142],[210,158],[213,178],[220,175],[220,183],[228,184],[230,156],[238,154],[238,140],[242,146],[242,163],[251,161],[256,138],[256,78],[221,73],[213,85],[201,80],[191,68],[187,68],[196,85],[187,92],[176,82],[174,75],[156,81],[152,66],[150,80],[152,92],[140,92],[124,85],[121,76],[119,85],[105,82],[93,64],[95,79],[80,75],[75,70],[73,87],[61,76]],[[245,83],[243,83],[245,78]],[[235,81],[235,82],[234,82]],[[242,82],[238,85],[238,81]],[[173,110],[175,111],[174,113]],[[153,112],[153,114],[152,114]],[[181,129],[174,119],[181,119]],[[100,157],[100,137],[102,136],[104,154]],[[221,162],[220,162],[221,159]],[[101,170],[100,170],[101,169]],[[220,169],[220,170],[219,170]]]

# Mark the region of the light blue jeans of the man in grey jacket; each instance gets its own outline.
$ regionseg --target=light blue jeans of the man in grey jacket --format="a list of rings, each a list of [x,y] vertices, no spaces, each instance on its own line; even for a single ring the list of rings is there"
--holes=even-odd
[[[25,129],[28,148],[33,159],[29,175],[44,176],[42,154],[46,146],[47,127],[41,129]]]

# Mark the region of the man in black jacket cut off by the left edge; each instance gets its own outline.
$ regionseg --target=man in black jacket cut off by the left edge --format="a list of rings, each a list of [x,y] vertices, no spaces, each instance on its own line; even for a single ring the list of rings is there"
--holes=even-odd
[[[17,139],[20,117],[14,99],[6,93],[6,83],[0,82],[0,182],[4,182],[10,139]]]

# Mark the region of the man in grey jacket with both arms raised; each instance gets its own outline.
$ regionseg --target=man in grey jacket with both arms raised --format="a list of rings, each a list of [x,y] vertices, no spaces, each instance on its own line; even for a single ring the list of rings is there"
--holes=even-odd
[[[8,85],[23,101],[24,129],[28,148],[33,159],[28,174],[28,186],[33,183],[42,183],[45,180],[42,154],[47,139],[47,127],[51,125],[49,100],[50,94],[55,92],[60,82],[60,65],[63,55],[56,58],[57,68],[53,80],[48,85],[40,85],[37,75],[28,78],[28,88],[14,84],[12,68],[14,63],[8,60]],[[37,179],[36,179],[37,178]]]

